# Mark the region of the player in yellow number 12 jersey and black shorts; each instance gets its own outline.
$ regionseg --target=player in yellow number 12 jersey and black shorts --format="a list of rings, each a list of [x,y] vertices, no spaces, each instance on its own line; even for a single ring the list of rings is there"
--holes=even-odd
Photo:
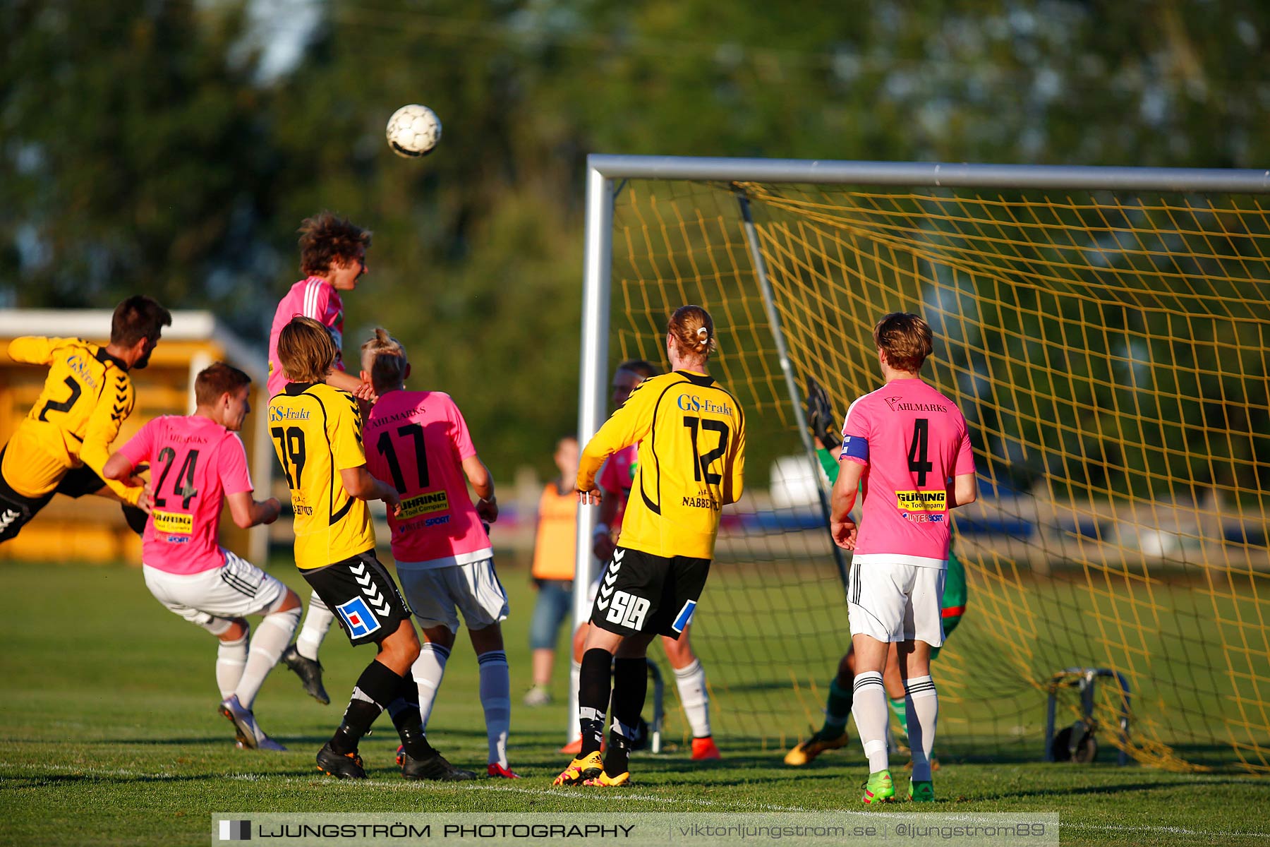
[[[622,785],[630,739],[648,693],[649,643],[679,637],[710,573],[719,512],[743,488],[745,418],[737,399],[706,375],[714,321],[700,306],[671,317],[672,373],[644,380],[582,453],[578,500],[599,503],[605,458],[639,443],[639,470],[613,559],[591,612],[578,682],[582,750],[555,785]],[[613,725],[602,759],[612,674]]]

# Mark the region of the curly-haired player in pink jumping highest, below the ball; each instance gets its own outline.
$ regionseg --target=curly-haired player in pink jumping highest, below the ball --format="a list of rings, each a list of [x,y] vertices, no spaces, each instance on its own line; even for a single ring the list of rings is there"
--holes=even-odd
[[[321,212],[305,218],[300,225],[300,272],[305,278],[291,286],[273,312],[269,330],[269,396],[279,394],[287,383],[278,362],[278,335],[292,317],[312,317],[326,328],[342,352],[344,343],[344,301],[340,291],[353,291],[366,273],[366,249],[371,246],[371,232],[347,218]],[[351,392],[359,400],[373,400],[371,386],[344,371],[342,353],[335,358],[335,368],[326,376],[326,383]],[[309,598],[309,615],[296,643],[287,646],[282,660],[300,676],[305,690],[318,702],[326,705],[330,697],[321,683],[321,664],[318,649],[335,620],[318,592]]]

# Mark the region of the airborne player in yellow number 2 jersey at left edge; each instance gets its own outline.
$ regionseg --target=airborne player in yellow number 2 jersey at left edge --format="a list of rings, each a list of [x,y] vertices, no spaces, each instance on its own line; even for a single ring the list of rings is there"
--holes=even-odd
[[[116,306],[110,343],[27,335],[9,343],[15,362],[48,366],[44,390],[0,450],[0,542],[18,535],[53,494],[99,494],[124,504],[128,526],[142,532],[150,503],[144,483],[103,480],[110,443],[136,401],[130,370],[150,363],[171,314],[137,295]]]

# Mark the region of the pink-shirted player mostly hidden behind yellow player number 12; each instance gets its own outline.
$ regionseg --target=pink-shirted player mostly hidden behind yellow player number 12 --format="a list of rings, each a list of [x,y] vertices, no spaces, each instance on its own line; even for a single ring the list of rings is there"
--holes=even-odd
[[[640,382],[658,375],[657,367],[644,359],[629,359],[617,366],[613,373],[613,408],[626,403],[626,397],[639,386]],[[622,528],[622,516],[626,513],[626,502],[631,494],[631,484],[639,464],[639,444],[613,453],[605,461],[596,484],[605,494],[599,502],[599,517],[593,536],[593,552],[601,561],[610,561],[613,556],[613,538]],[[603,571],[596,574],[596,585]],[[596,588],[592,587],[594,593]],[[582,669],[583,646],[587,641],[588,624],[578,627],[573,636],[573,673],[574,690],[578,688],[577,674]],[[721,758],[719,745],[715,744],[710,731],[710,693],[706,688],[706,672],[701,667],[696,653],[692,651],[692,643],[688,637],[691,624],[683,627],[683,635],[678,640],[662,636],[662,646],[665,649],[665,658],[674,668],[674,684],[679,691],[679,704],[688,717],[692,729],[692,758],[718,759]],[[582,738],[577,738],[566,744],[561,753],[577,753],[582,749]]]

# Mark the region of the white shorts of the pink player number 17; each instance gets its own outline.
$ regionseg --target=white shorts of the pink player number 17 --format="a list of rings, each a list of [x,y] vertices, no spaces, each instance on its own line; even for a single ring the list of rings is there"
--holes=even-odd
[[[424,629],[444,624],[457,632],[460,611],[469,630],[507,620],[507,592],[494,573],[493,559],[424,570],[398,568],[398,579]]]

